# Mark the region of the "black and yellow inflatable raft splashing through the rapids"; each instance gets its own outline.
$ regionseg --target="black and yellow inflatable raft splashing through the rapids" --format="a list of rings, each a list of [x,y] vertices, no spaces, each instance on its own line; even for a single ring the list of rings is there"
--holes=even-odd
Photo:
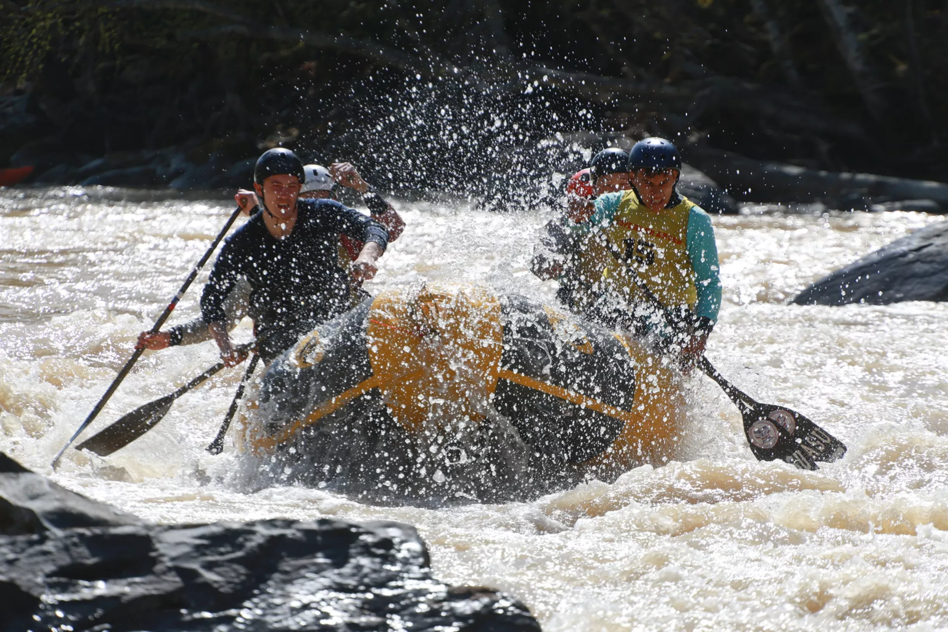
[[[537,497],[668,460],[683,397],[667,360],[472,285],[366,299],[266,370],[235,429],[248,471],[374,502]]]

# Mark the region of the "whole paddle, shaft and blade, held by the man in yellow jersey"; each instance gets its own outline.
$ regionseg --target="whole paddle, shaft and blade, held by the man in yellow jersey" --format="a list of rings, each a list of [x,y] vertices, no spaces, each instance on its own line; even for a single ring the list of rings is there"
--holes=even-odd
[[[628,265],[624,267],[626,275],[642,291],[652,307],[663,316],[665,323],[680,334],[690,334],[681,317],[665,307]],[[714,380],[735,406],[738,406],[744,420],[744,438],[757,460],[785,460],[800,469],[815,470],[818,469],[815,461],[831,462],[842,459],[846,454],[845,443],[795,410],[786,406],[760,404],[739,390],[728,382],[704,355],[698,361],[698,368]]]

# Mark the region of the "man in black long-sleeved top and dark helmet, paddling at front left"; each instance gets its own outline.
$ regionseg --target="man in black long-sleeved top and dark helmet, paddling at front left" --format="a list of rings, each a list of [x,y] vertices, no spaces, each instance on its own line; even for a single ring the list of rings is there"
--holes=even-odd
[[[320,323],[350,306],[350,273],[338,263],[339,235],[364,244],[352,279],[372,279],[389,234],[371,217],[335,200],[300,199],[303,166],[285,149],[265,152],[254,169],[263,201],[257,213],[226,241],[201,295],[201,316],[228,366],[246,352],[234,349],[224,302],[240,280],[249,283],[248,315],[264,362],[290,348]]]

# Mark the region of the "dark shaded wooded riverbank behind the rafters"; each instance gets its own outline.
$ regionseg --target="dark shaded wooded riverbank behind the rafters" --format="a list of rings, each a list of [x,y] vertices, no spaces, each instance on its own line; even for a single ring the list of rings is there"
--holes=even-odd
[[[946,0],[0,0],[0,168],[231,186],[283,144],[502,195],[665,135],[943,181],[946,53]]]

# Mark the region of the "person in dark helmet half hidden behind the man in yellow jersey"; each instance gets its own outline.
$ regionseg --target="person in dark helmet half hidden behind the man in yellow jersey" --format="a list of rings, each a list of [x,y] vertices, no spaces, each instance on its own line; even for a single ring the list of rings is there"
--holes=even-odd
[[[574,312],[589,307],[593,283],[598,280],[596,244],[587,233],[574,231],[594,212],[593,200],[629,189],[629,153],[611,147],[596,153],[590,168],[576,172],[566,186],[567,210],[544,226],[534,250],[531,270],[542,280],[556,279],[556,298]]]

